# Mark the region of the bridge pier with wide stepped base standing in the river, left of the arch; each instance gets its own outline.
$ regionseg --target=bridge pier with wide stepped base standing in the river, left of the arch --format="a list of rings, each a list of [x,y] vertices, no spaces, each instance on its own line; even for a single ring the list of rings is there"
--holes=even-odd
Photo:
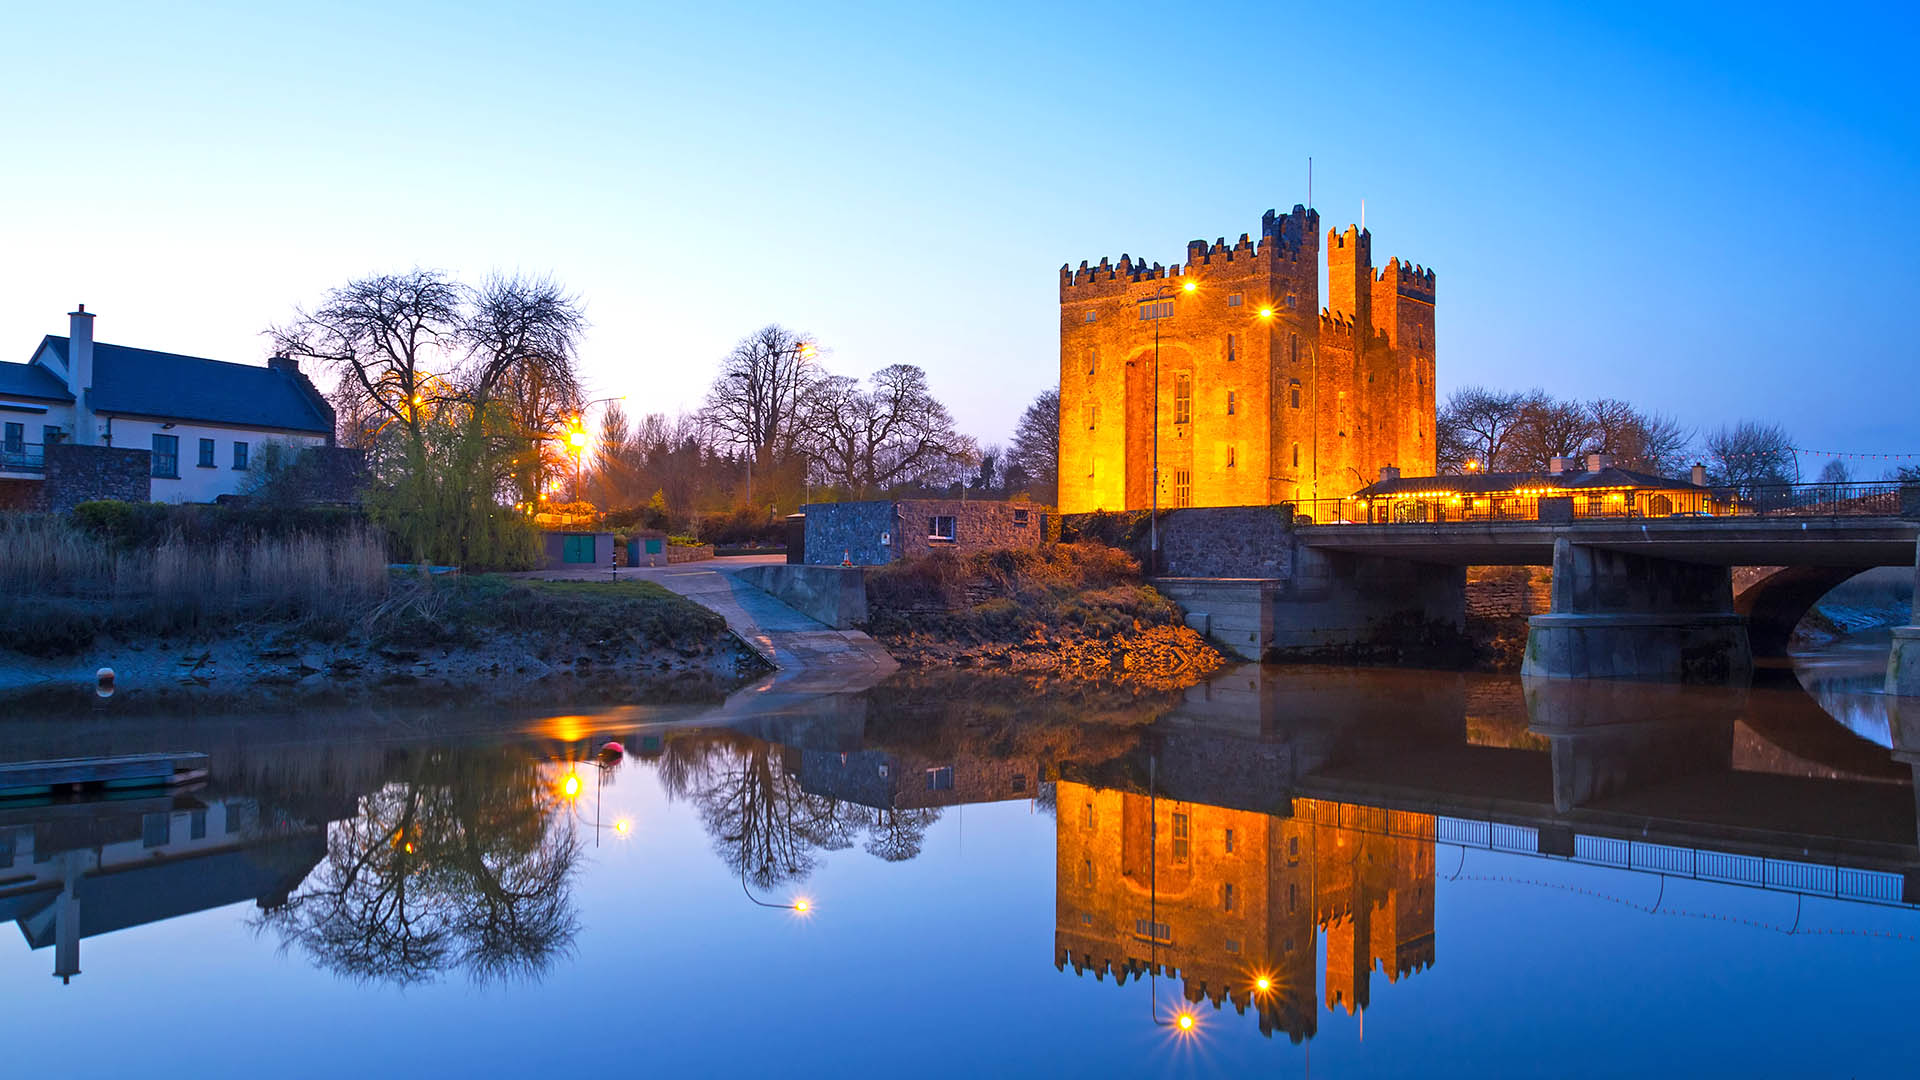
[[[1747,623],[1726,567],[1553,540],[1553,609],[1526,621],[1521,675],[1745,682]]]

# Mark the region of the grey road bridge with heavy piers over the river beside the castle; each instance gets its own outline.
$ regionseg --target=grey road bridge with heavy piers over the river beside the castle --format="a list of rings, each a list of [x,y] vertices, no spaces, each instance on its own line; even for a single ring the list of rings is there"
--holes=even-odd
[[[1169,515],[1164,588],[1188,609],[1240,613],[1217,640],[1242,655],[1238,638],[1258,642],[1252,655],[1263,659],[1380,646],[1392,657],[1407,636],[1463,625],[1467,567],[1532,565],[1553,567],[1553,600],[1528,623],[1524,673],[1695,682],[1738,682],[1755,655],[1782,655],[1830,588],[1874,567],[1914,567],[1920,540],[1920,521],[1864,515],[1273,527],[1258,540],[1261,567],[1277,569],[1256,600],[1250,578],[1206,553],[1206,536],[1229,521],[1250,523],[1244,509]],[[1244,546],[1242,536],[1227,548]],[[1920,630],[1895,634],[1889,686],[1903,650],[1914,651],[1905,667],[1916,684],[1903,692],[1920,692]]]

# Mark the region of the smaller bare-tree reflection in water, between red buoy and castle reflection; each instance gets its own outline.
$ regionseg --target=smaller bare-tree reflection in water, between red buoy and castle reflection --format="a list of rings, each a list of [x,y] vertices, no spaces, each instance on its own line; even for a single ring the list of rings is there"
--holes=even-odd
[[[795,751],[737,732],[674,738],[660,759],[668,796],[699,809],[714,853],[756,888],[803,882],[820,851],[866,836],[866,851],[899,863],[920,855],[937,809],[876,809],[801,788]]]

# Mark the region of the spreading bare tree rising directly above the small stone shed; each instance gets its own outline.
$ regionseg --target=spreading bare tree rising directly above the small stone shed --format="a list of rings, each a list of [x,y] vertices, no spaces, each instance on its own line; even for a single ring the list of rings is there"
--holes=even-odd
[[[977,457],[912,363],[881,367],[864,388],[845,377],[822,379],[803,425],[820,480],[856,496],[945,477]]]

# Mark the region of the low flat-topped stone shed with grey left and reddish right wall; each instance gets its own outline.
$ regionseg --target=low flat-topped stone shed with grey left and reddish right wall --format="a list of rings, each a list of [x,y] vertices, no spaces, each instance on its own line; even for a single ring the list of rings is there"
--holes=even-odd
[[[806,503],[806,565],[877,567],[931,552],[1039,548],[1048,507],[1000,500]]]

